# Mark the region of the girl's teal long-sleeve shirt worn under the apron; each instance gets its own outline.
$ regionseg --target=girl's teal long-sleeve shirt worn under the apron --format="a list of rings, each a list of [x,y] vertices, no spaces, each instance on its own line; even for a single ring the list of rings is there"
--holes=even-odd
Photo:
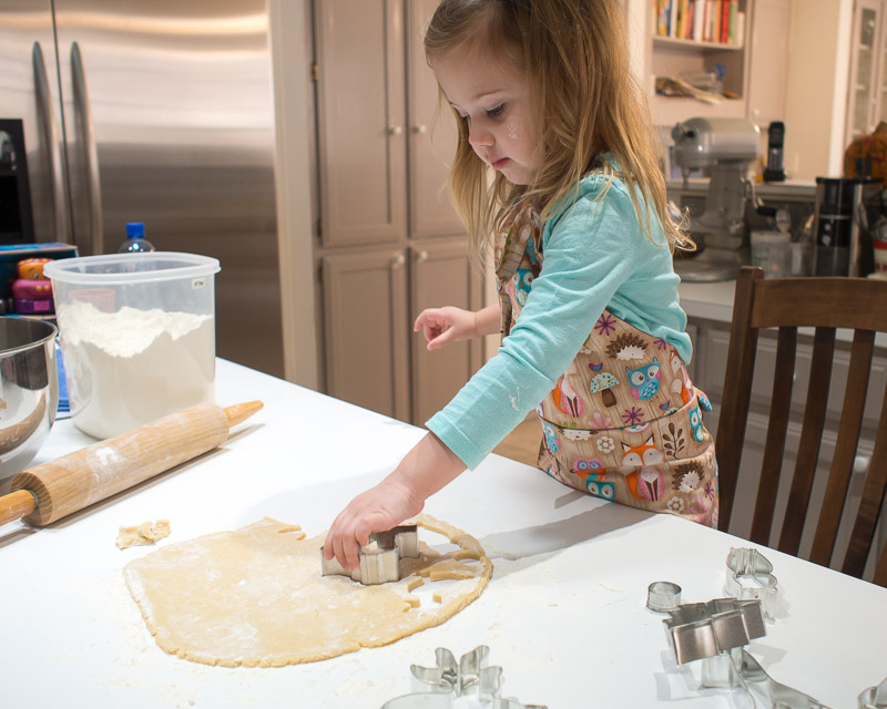
[[[542,270],[511,332],[447,407],[426,422],[470,469],[534,409],[579,352],[606,308],[692,354],[680,278],[656,219],[648,238],[629,189],[585,176],[574,201],[542,229]],[[643,203],[642,203],[643,204]],[[655,243],[654,243],[655,242]]]

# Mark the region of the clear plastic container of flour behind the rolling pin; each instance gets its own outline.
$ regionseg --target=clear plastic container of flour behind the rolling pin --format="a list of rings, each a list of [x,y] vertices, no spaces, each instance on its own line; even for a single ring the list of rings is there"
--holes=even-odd
[[[153,251],[52,261],[71,419],[99,439],[215,400],[218,261]]]

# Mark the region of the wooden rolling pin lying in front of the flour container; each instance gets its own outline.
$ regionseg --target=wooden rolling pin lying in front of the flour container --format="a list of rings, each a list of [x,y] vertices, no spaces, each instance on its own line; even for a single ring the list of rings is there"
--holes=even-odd
[[[20,472],[0,497],[0,525],[43,526],[212,451],[262,408],[202,403]]]

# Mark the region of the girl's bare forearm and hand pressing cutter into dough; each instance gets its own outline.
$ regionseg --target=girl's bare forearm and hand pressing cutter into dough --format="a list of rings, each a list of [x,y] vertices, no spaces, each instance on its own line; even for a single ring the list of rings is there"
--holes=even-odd
[[[385,532],[419,514],[425,501],[465,469],[440,439],[427,433],[385,480],[339,513],[327,532],[324,556],[335,556],[345,568],[355,568],[357,552],[373,532]]]

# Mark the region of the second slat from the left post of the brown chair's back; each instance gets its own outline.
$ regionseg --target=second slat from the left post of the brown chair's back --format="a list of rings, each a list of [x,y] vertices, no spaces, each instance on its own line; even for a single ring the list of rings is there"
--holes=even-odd
[[[797,446],[795,474],[788,491],[788,505],[779,534],[781,552],[797,555],[801,535],[807,518],[807,507],[819,461],[819,444],[825,430],[825,414],[828,405],[828,389],[832,383],[832,358],[835,353],[835,328],[816,328],[813,341],[810,379],[807,384],[807,400],[804,408],[804,423],[801,428],[801,442]],[[776,376],[779,376],[777,372]]]

